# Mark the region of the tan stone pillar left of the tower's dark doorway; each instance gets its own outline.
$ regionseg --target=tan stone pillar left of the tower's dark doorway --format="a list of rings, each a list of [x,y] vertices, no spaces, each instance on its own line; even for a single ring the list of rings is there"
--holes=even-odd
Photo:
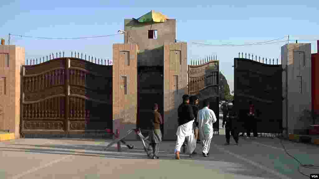
[[[136,44],[113,44],[113,131],[120,136],[137,124],[137,51]]]

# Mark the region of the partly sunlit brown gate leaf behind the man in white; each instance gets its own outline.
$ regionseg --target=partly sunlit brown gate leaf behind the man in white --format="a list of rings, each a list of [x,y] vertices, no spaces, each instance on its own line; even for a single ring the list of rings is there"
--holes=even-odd
[[[188,66],[188,94],[197,95],[200,109],[204,99],[210,100],[210,109],[215,112],[217,122],[214,123],[214,133],[219,134],[219,61],[212,57],[201,63]]]

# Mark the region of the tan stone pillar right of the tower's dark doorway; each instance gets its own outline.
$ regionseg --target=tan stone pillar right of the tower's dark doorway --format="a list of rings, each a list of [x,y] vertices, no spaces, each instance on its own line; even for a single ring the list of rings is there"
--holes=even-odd
[[[177,109],[187,89],[187,43],[164,44],[164,133],[163,139],[175,140]]]

